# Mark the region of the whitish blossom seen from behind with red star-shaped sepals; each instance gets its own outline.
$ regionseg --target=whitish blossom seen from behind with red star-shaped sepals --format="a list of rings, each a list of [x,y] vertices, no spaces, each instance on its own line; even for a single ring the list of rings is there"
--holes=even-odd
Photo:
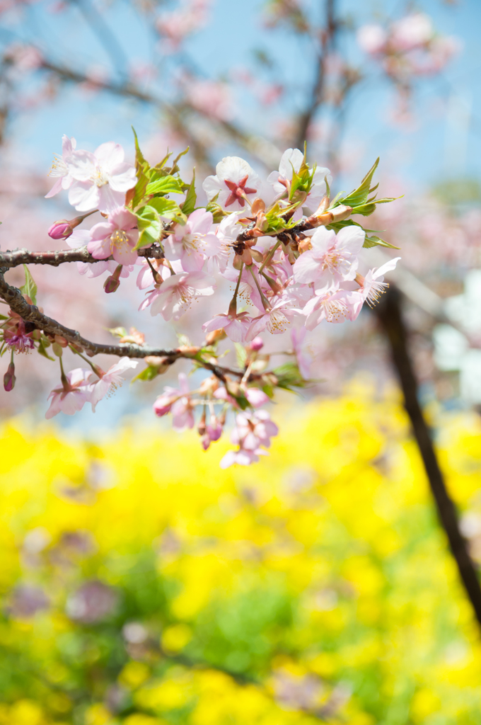
[[[215,167],[216,175],[208,176],[202,188],[208,199],[217,196],[221,207],[234,211],[246,204],[243,195],[256,196],[262,184],[248,163],[238,156],[226,156]]]

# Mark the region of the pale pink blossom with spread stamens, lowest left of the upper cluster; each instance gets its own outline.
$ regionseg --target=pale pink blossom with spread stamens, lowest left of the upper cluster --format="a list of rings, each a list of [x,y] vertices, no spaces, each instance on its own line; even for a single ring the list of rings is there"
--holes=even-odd
[[[214,294],[215,280],[204,272],[183,272],[172,275],[154,289],[140,309],[151,307],[151,315],[162,315],[164,320],[180,320],[196,297]]]

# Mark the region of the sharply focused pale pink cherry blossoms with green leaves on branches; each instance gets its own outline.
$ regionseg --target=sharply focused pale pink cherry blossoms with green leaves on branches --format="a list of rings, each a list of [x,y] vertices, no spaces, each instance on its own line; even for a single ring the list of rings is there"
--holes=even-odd
[[[204,368],[211,375],[190,390],[181,373],[178,388],[165,387],[154,412],[170,413],[174,428],[183,430],[193,428],[199,408],[197,428],[206,450],[220,438],[232,411],[232,441],[238,450],[225,456],[221,465],[252,463],[266,455],[264,449],[277,434],[277,426],[259,407],[269,402],[276,388],[301,387],[309,380],[309,361],[302,349],[306,331],[323,320],[355,320],[364,302],[375,304],[387,286],[383,275],[395,268],[399,257],[361,275],[361,249],[391,245],[364,230],[353,216],[370,215],[377,204],[392,199],[378,199],[377,187],[372,187],[376,162],[351,194],[338,194],[331,200],[330,170],[309,166],[305,150],[288,149],[278,170],[265,178],[245,159],[225,157],[215,175],[202,183],[207,203],[198,204],[195,178],[191,183],[180,178],[180,157],[170,162],[167,154],[151,167],[136,137],[135,149],[133,167],[125,162],[118,144],[101,144],[90,153],[77,149],[75,139],[64,136],[62,156],[51,170],[57,181],[47,196],[63,188],[81,213],[55,222],[49,235],[67,240],[72,252],[62,252],[67,255],[64,260],[77,260],[80,274],[93,278],[109,272],[106,293],[116,291],[120,280],[137,269],[137,286],[144,293],[139,309],[151,315],[177,321],[194,300],[225,300],[227,292],[228,305],[220,302],[225,311],[217,311],[217,304],[212,306],[215,314],[204,313],[202,344],[184,339],[167,354],[147,349],[138,331],[127,334],[124,328],[116,328],[112,332],[120,337],[118,354],[125,350],[125,355],[106,373],[84,357],[85,348],[71,331],[65,328],[58,334],[57,326],[53,332],[49,318],[42,327],[38,321],[25,323],[12,311],[4,323],[1,350],[21,351],[36,344],[38,352],[50,357],[46,351],[52,346],[59,358],[61,383],[51,392],[47,418],[59,411],[72,415],[85,402],[95,410],[99,400],[120,384],[123,374],[138,364],[132,357],[143,357],[147,363],[135,378],[141,380],[156,378],[178,358],[188,358],[193,370]],[[85,217],[96,212],[101,221],[90,229],[79,228]],[[26,266],[21,291],[35,305],[36,287]],[[283,334],[288,328],[293,349],[284,354],[291,356],[290,362],[269,370],[261,336],[266,331]],[[218,344],[225,338],[235,345],[237,367],[219,365],[226,351],[219,351]],[[64,373],[62,350],[67,347],[91,370],[75,368]],[[89,343],[89,356],[95,354],[95,347]],[[11,389],[12,370],[7,376],[5,388]]]

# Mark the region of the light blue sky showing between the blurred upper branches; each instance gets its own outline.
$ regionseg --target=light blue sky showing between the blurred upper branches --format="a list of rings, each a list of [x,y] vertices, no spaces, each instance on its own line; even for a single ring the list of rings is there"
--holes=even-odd
[[[49,46],[51,56],[69,65],[109,65],[104,47],[85,24],[78,7],[72,4],[66,12],[54,14],[49,12],[49,5],[50,0],[27,7],[20,35]],[[376,8],[377,11],[382,9],[382,14],[396,17],[396,7],[401,5],[388,1],[359,4],[355,0],[344,0],[341,8],[355,25],[359,25],[376,17]],[[112,7],[114,12],[109,10],[105,17],[113,35],[128,49],[130,59],[147,61],[154,58],[155,41],[143,20],[122,0],[117,0]],[[212,24],[188,41],[188,54],[199,70],[206,76],[226,75],[230,67],[251,65],[254,49],[267,50],[281,74],[296,88],[288,107],[300,108],[304,96],[300,91],[309,88],[311,83],[306,41],[292,38],[283,30],[267,33],[262,25],[262,2],[259,0],[243,0],[242,3],[217,0],[214,7]],[[361,147],[364,165],[381,154],[389,170],[403,175],[415,188],[449,175],[478,176],[481,152],[481,46],[478,40],[481,4],[477,0],[460,0],[456,5],[427,0],[418,7],[432,14],[440,32],[458,36],[464,48],[439,78],[419,81],[414,130],[388,123],[389,107],[394,100],[392,89],[374,65],[366,64],[352,41],[352,34],[346,34],[344,41],[348,56],[367,73],[367,80],[356,91],[349,111],[346,143]],[[17,29],[14,30],[17,33]],[[75,47],[74,59],[72,46]],[[162,64],[162,72],[164,75],[172,72],[172,62],[168,59]],[[168,93],[167,86],[161,92]],[[246,94],[241,98],[250,115],[248,123],[253,128],[262,128],[266,116],[277,120],[287,110],[285,104],[259,112],[258,107],[249,105]],[[448,123],[444,112],[446,104],[451,109]],[[75,136],[86,147],[94,147],[106,138],[129,146],[131,123],[142,138],[159,127],[159,116],[142,104],[106,95],[88,96],[69,88],[51,107],[15,117],[10,136],[22,149],[25,161],[39,169],[47,169],[52,152],[59,149],[62,133]],[[455,156],[456,163],[453,162]],[[322,162],[322,159],[317,160]]]

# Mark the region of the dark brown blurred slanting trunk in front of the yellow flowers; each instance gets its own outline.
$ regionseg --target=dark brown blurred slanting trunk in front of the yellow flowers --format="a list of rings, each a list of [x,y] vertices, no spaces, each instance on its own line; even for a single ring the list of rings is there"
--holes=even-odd
[[[393,365],[398,373],[404,397],[404,407],[409,415],[414,437],[424,463],[427,479],[438,508],[438,516],[443,525],[451,552],[456,560],[459,576],[481,625],[481,587],[472,558],[469,556],[467,542],[459,529],[456,507],[451,499],[440,470],[438,458],[432,444],[429,428],[424,420],[418,400],[417,381],[409,356],[408,334],[401,314],[401,294],[391,287],[380,305],[375,308],[390,345]]]

